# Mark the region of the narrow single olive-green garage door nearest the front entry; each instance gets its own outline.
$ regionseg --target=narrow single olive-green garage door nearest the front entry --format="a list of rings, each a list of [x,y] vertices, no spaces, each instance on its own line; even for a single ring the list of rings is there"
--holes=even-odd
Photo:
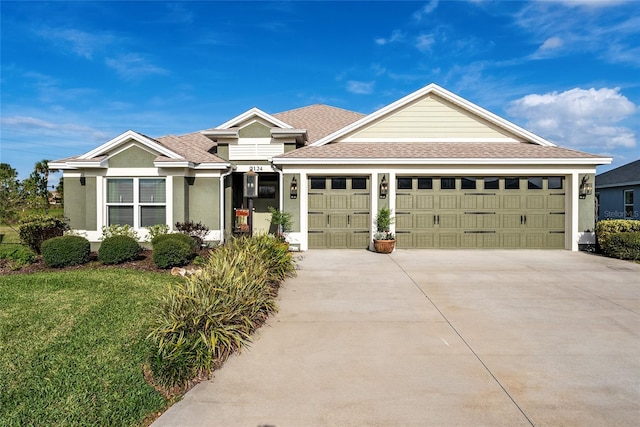
[[[368,177],[310,177],[309,247],[368,247],[370,201]]]

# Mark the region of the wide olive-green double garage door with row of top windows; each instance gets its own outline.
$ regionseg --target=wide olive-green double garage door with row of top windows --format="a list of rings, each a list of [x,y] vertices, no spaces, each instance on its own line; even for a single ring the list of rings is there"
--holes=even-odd
[[[564,179],[403,177],[399,248],[564,248]]]

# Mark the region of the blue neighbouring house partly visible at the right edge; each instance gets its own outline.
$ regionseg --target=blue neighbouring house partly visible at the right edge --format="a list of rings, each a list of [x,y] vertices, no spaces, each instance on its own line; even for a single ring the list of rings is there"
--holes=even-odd
[[[640,159],[596,176],[598,220],[640,220]]]

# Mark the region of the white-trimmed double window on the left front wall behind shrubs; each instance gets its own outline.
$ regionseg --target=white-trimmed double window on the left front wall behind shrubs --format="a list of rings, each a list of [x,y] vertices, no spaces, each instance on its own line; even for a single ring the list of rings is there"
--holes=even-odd
[[[107,225],[134,228],[166,224],[167,192],[164,178],[108,178]]]

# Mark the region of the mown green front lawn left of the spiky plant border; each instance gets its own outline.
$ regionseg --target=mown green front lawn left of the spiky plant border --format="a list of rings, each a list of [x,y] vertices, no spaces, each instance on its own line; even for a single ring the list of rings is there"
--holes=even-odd
[[[125,269],[0,280],[0,425],[134,426],[167,406],[143,378],[157,296]]]

